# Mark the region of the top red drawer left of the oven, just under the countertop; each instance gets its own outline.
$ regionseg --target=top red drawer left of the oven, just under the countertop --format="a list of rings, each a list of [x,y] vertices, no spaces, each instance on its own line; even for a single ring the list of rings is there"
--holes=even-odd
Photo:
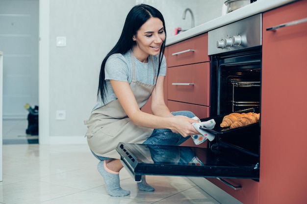
[[[209,62],[207,33],[168,46],[168,67],[200,62]]]

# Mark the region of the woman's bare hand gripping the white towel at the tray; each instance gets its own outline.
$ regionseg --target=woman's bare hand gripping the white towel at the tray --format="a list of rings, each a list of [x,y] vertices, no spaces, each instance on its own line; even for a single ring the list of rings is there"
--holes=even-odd
[[[191,135],[200,135],[200,133],[194,128],[192,123],[199,122],[184,115],[175,115],[173,118],[174,128],[173,133],[179,133],[181,136],[187,137]]]

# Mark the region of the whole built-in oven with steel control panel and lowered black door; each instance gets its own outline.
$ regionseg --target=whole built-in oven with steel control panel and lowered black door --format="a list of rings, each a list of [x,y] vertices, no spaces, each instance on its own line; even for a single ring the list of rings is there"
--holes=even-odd
[[[260,111],[261,15],[208,32],[210,117],[215,139],[206,148],[120,143],[117,151],[135,181],[141,175],[259,179],[260,123],[219,127],[224,115]],[[197,114],[197,113],[196,113]],[[221,179],[222,180],[222,179]]]

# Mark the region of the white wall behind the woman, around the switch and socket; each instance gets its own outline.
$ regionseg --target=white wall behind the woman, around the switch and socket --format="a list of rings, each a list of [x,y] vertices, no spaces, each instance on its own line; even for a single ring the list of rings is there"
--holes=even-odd
[[[172,36],[175,27],[190,27],[189,13],[182,20],[185,8],[192,9],[199,25],[219,17],[222,2],[40,0],[40,144],[86,143],[83,120],[96,102],[102,59],[117,42],[133,5],[147,3],[159,9]],[[57,36],[65,36],[67,45],[56,46]],[[65,110],[65,120],[56,120],[57,110]]]

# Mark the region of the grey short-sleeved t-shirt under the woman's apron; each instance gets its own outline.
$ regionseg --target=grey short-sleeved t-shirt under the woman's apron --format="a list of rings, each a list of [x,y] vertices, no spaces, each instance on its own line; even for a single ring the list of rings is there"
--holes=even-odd
[[[155,68],[155,76],[156,76],[159,67],[158,56],[159,55],[149,57],[148,63],[142,63],[134,57],[135,80],[146,84],[155,83],[153,75],[153,65]],[[153,63],[151,59],[153,59]],[[130,52],[128,51],[125,54],[111,55],[105,63],[104,72],[105,72],[104,79],[106,81],[106,88],[107,88],[105,102],[102,103],[101,98],[98,97],[97,103],[93,108],[93,110],[98,109],[104,106],[105,104],[108,104],[111,101],[117,99],[109,80],[124,81],[128,82],[129,84],[131,83],[133,68],[132,68]],[[166,61],[165,57],[163,56],[159,76],[165,76],[165,75],[166,75]]]

